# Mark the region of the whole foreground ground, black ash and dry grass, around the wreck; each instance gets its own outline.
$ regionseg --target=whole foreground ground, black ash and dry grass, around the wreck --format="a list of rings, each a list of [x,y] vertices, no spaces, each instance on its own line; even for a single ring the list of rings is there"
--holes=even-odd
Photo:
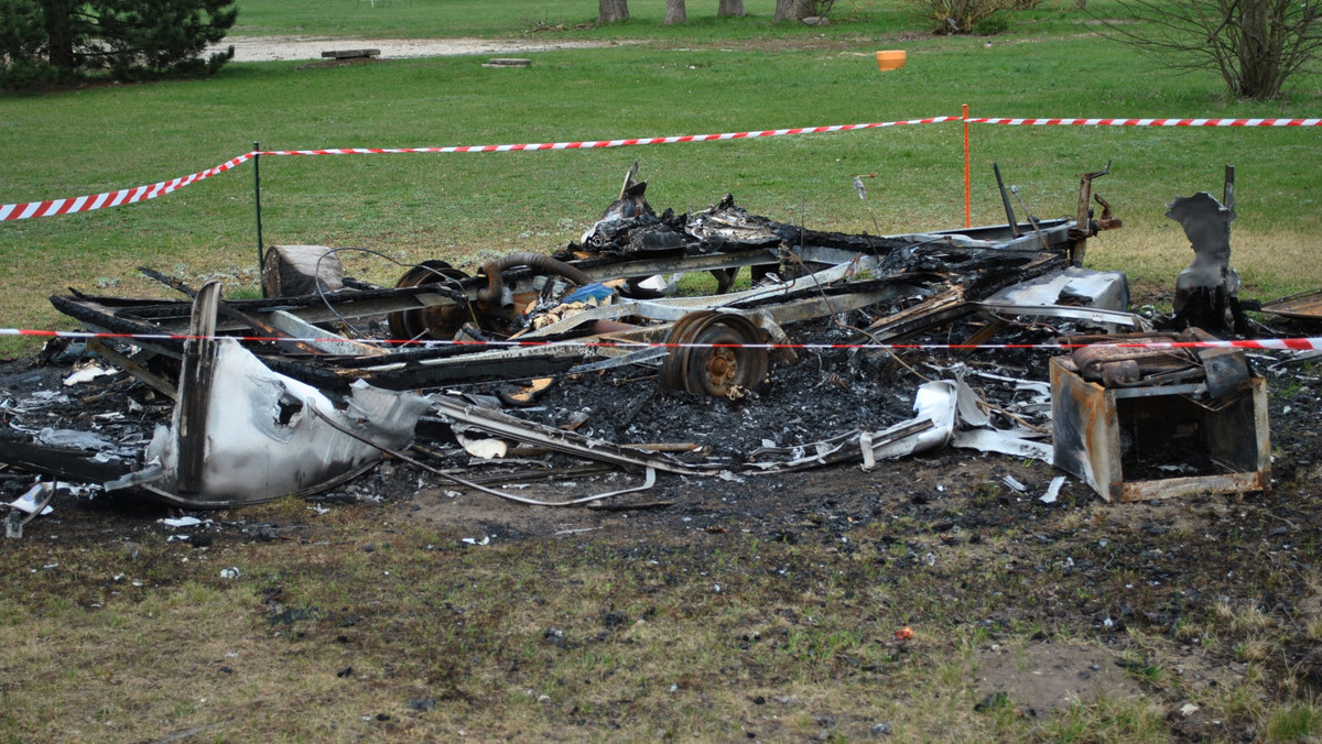
[[[962,361],[1038,363],[1017,354]],[[7,391],[67,371],[11,362]],[[873,473],[666,476],[629,497],[666,506],[627,511],[513,505],[402,463],[320,500],[200,513],[189,527],[167,526],[177,513],[157,506],[62,496],[3,558],[7,731],[1315,735],[1315,371],[1268,374],[1277,484],[1263,494],[1105,503],[1072,481],[1047,505],[1050,468],[947,449]],[[875,402],[869,422],[902,418],[894,389],[911,375],[884,358],[805,354],[743,400],[598,375],[538,404],[735,451],[768,432],[792,444],[855,426],[861,394]],[[95,416],[134,399],[140,426],[167,410],[141,386],[103,385],[42,418],[122,424]],[[808,402],[825,414],[804,416]],[[5,476],[9,493],[30,481]],[[77,686],[70,665],[87,670]],[[38,712],[52,700],[82,715],[52,723]]]

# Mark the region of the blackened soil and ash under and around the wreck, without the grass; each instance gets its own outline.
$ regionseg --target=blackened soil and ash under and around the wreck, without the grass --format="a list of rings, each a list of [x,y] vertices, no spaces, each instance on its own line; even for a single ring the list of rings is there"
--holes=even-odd
[[[846,337],[832,325],[802,330],[814,341]],[[1315,336],[1307,328],[1284,332]],[[1043,329],[1011,333],[1017,340],[1050,336]],[[1322,370],[1317,366],[1276,367],[1268,355],[1253,358],[1268,378],[1270,396],[1274,488],[1268,493],[1191,493],[1153,502],[1103,503],[1085,484],[1069,478],[1059,500],[1044,503],[1039,496],[1058,470],[962,449],[891,461],[870,473],[857,463],[785,474],[735,469],[748,452],[768,443],[801,445],[904,420],[912,415],[914,390],[921,382],[916,375],[949,378],[956,365],[962,365],[966,379],[997,406],[1023,403],[1029,394],[1013,383],[977,373],[1044,381],[1048,358],[1050,352],[1038,350],[911,350],[899,359],[878,352],[800,352],[793,362],[773,362],[767,383],[735,400],[662,391],[654,373],[639,367],[566,378],[530,408],[516,412],[555,426],[586,414],[579,426],[583,433],[627,443],[694,443],[702,445],[701,457],[728,463],[731,469],[702,477],[662,473],[648,492],[594,507],[555,509],[502,501],[405,463],[387,463],[316,501],[330,509],[336,502],[375,502],[373,509],[393,518],[434,521],[471,533],[475,542],[591,533],[600,539],[689,544],[703,535],[744,533],[761,540],[830,546],[849,555],[858,548],[857,535],[876,534],[861,530],[882,522],[884,544],[876,547],[884,550],[879,559],[894,570],[927,567],[939,579],[932,591],[948,595],[956,607],[968,583],[957,568],[943,572],[948,556],[962,551],[1010,560],[1029,589],[1006,597],[1002,608],[978,620],[993,630],[1038,622],[1051,632],[1095,636],[1116,649],[1126,646],[1129,628],[1159,634],[1178,642],[1183,686],[1198,690],[1233,683],[1245,667],[1224,650],[1210,653],[1198,638],[1185,638],[1182,624],[1207,617],[1219,604],[1249,603],[1278,618],[1282,628],[1298,630],[1286,634],[1278,658],[1264,662],[1280,675],[1282,694],[1300,686],[1313,694],[1322,691],[1322,657],[1307,632],[1322,613],[1309,589],[1322,559],[1322,447],[1315,424],[1322,412]],[[168,400],[131,378],[118,374],[63,387],[61,381],[70,371],[67,362],[52,358],[0,365],[4,436],[28,437],[48,427],[87,431],[106,439],[114,452],[140,447],[156,424],[168,422]],[[493,394],[496,387],[463,391]],[[1025,418],[1042,422],[1040,415]],[[641,481],[637,473],[558,455],[492,464],[472,461],[452,443],[426,445],[440,455],[432,459],[434,465],[525,498],[563,501]],[[1023,490],[1007,485],[1006,477]],[[0,497],[13,500],[33,482],[30,474],[3,470]],[[59,494],[54,506],[54,514],[28,525],[25,539],[75,544],[134,540],[140,539],[135,535],[165,530],[159,519],[177,514],[122,494]],[[290,537],[307,529],[303,523],[250,525],[238,510],[218,517],[202,538],[208,544],[246,542],[258,533]],[[1062,679],[1076,683],[1079,674],[1091,674],[1085,666],[1095,662],[1084,650],[1062,646],[1058,651],[1075,654],[1069,659],[1054,657],[1051,663],[1064,670]],[[1018,665],[1022,669],[1022,661]],[[1083,671],[1075,669],[1079,665],[1084,665]],[[989,659],[985,669],[994,678],[999,667]],[[988,685],[997,688],[995,679]],[[1064,694],[1062,685],[1021,690],[1018,699],[1036,695],[1034,699],[1051,707]],[[1253,725],[1194,715],[1171,723],[1170,731],[1188,740],[1252,739],[1260,733]]]

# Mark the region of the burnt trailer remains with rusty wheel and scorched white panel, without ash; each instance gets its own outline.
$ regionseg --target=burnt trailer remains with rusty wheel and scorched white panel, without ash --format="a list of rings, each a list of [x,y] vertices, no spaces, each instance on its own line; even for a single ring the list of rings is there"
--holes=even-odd
[[[736,389],[752,389],[765,377],[768,342],[792,346],[783,326],[842,317],[849,311],[865,311],[870,321],[857,329],[859,342],[903,338],[974,313],[1063,317],[1142,329],[1145,321],[1125,312],[1128,289],[1122,275],[1080,279],[1088,274],[1077,270],[1088,238],[1120,226],[1100,198],[1104,214],[1092,219],[1085,210],[1088,186],[1085,178],[1079,221],[1030,217],[1025,223],[873,237],[804,230],[751,217],[728,196],[697,214],[676,217],[668,211],[658,217],[641,201],[636,185],[628,194],[636,201],[612,214],[627,201],[621,192],[621,200],[594,225],[582,244],[570,243],[554,256],[505,256],[489,262],[479,276],[443,262],[424,262],[394,288],[346,279],[344,288],[333,292],[226,301],[214,284],[194,289],[143,270],[193,300],[120,299],[73,291],[52,297],[52,303],[91,330],[131,337],[136,349],[123,353],[108,340],[91,340],[89,345],[177,400],[171,431],[159,429],[149,448],[157,457],[116,488],[137,486],[182,506],[251,503],[276,492],[311,493],[353,477],[374,457],[328,427],[349,439],[357,435],[346,427],[365,427],[364,444],[369,448],[382,447],[378,439],[398,440],[387,449],[398,447],[416,424],[419,410],[427,407],[410,391],[461,381],[510,381],[660,362],[662,387],[738,394]],[[743,267],[754,267],[754,285],[728,291],[734,274]],[[1073,271],[1079,274],[1069,274]],[[717,275],[718,292],[657,296],[640,281],[690,272]],[[756,280],[759,274],[761,280]],[[1105,299],[1088,289],[1080,293],[1077,287],[1072,292],[1063,288],[1063,283],[1072,285],[1076,280],[1080,285],[1109,283]],[[568,301],[579,296],[576,291],[566,295],[575,285],[584,289],[599,283],[611,284],[605,303]],[[571,305],[572,312],[564,311]],[[206,311],[200,313],[202,307]],[[200,324],[200,316],[208,320]],[[390,337],[348,338],[336,333],[369,318],[377,336],[387,325]],[[784,349],[776,353],[793,355]],[[253,378],[256,387],[231,391],[234,374],[210,371],[222,365],[249,370],[238,377]],[[171,378],[178,381],[177,387]],[[272,432],[255,433],[274,440],[304,439],[283,459],[291,468],[297,466],[295,480],[272,484],[271,474],[284,468],[258,466],[249,473],[250,485],[227,490],[233,478],[218,477],[217,468],[230,472],[251,461],[254,453],[247,441],[241,441],[247,437],[235,437],[230,431],[238,424],[223,423],[227,404],[217,403],[217,419],[206,410],[215,404],[204,399],[214,403],[234,394],[253,398],[247,402],[253,411],[271,408],[279,414]],[[477,416],[468,420],[468,427],[493,426],[490,414],[460,415],[435,396],[431,407],[453,420]],[[873,448],[887,451],[887,441],[907,448],[903,440],[914,432],[906,427],[878,432],[871,437]],[[526,424],[516,429],[516,440],[563,445],[592,459],[609,451],[609,443],[559,443],[564,435],[533,431]],[[225,447],[218,448],[222,440]],[[1030,447],[1013,444],[1014,451]],[[258,451],[264,452],[260,447]],[[334,451],[334,456],[315,463],[320,469],[305,468],[317,460],[309,453],[323,451]],[[847,457],[843,449],[838,455]],[[649,473],[691,468],[666,459],[639,461],[636,452],[621,452],[620,457]],[[825,463],[818,460],[759,466]],[[164,474],[153,470],[152,461],[164,463]]]

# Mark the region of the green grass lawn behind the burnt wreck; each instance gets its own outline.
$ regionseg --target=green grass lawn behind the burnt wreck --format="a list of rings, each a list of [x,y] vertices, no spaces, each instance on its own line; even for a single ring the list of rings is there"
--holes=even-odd
[[[660,25],[662,8],[633,3],[625,24],[557,36],[636,44],[539,52],[527,69],[485,69],[483,56],[334,67],[233,63],[201,81],[7,94],[0,204],[184,176],[254,141],[295,149],[641,137],[957,115],[965,103],[973,116],[1322,112],[1322,77],[1297,79],[1272,103],[1227,100],[1212,73],[1173,75],[1096,36],[1096,22],[1064,1],[1014,16],[1011,32],[990,48],[984,38],[923,36],[923,21],[895,3],[837,4],[838,22],[828,29],[773,26],[769,1],[748,3],[750,17],[728,22],[703,19],[709,9],[694,4],[685,28]],[[299,13],[296,3],[241,3],[238,33],[517,34],[525,17],[578,24],[591,20],[595,5],[415,0],[305,12],[315,22],[297,21]],[[379,25],[354,26],[334,13]],[[906,49],[907,66],[878,71],[873,53],[880,48]],[[1190,254],[1163,205],[1177,194],[1219,194],[1223,167],[1235,164],[1235,263],[1245,295],[1269,299],[1322,283],[1322,225],[1313,207],[1319,136],[1318,128],[973,126],[973,217],[1003,219],[993,163],[1036,214],[1054,217],[1072,211],[1077,174],[1110,160],[1112,176],[1097,190],[1126,227],[1097,241],[1089,263],[1170,284]],[[873,231],[850,182],[876,173],[870,201],[883,231],[964,219],[961,128],[936,124],[594,151],[264,157],[266,242],[459,263],[550,251],[599,215],[635,159],[657,209],[701,209],[731,192],[776,219]],[[253,213],[253,167],[245,164],[151,202],[5,222],[0,325],[67,328],[45,301],[67,285],[159,292],[136,278],[140,264],[189,280],[218,274],[230,278],[231,292],[251,289]],[[348,270],[391,283],[399,274],[375,259],[350,259]],[[4,346],[20,348],[30,346]]]

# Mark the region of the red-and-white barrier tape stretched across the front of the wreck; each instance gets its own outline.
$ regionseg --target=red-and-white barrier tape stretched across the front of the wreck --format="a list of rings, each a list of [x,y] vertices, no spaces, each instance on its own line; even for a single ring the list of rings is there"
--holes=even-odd
[[[98,333],[90,330],[37,330],[30,328],[0,328],[0,336],[36,336],[46,338],[120,338],[147,341],[189,341],[204,338],[184,333]],[[333,342],[340,337],[328,338],[283,338],[270,336],[231,336],[238,341],[254,342]],[[395,346],[583,346],[617,349],[1080,349],[1084,346],[1116,346],[1121,349],[1255,349],[1260,352],[1310,352],[1322,350],[1319,338],[1253,338],[1245,341],[1161,341],[1144,344],[649,344],[642,341],[373,341],[365,344]]]

